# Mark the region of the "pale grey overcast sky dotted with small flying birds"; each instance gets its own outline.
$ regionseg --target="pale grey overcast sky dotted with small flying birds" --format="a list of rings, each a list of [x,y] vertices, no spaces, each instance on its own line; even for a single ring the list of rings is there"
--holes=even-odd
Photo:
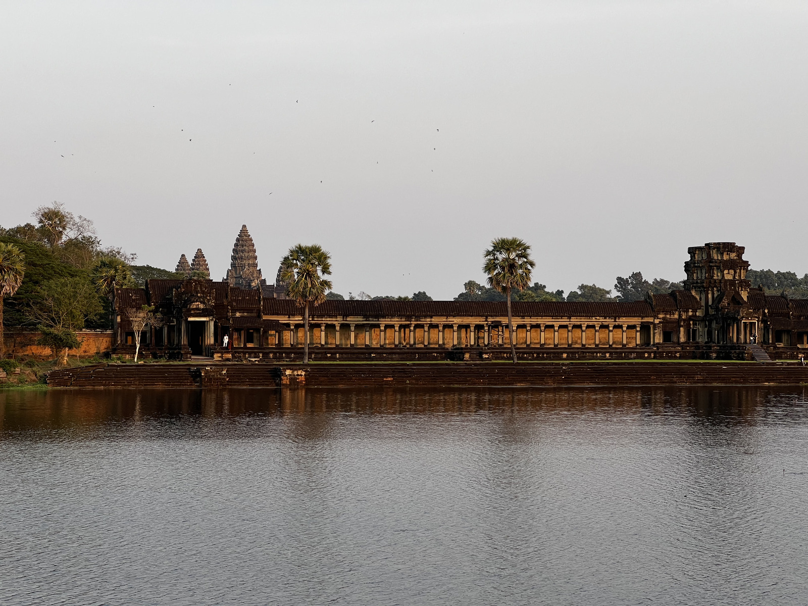
[[[808,272],[808,2],[0,2],[0,225],[347,297],[451,299],[493,238],[549,289],[684,278],[688,246]]]

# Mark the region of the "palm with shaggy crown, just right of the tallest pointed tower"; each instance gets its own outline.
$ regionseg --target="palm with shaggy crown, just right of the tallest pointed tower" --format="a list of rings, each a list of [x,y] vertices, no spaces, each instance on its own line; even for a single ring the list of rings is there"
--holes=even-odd
[[[309,306],[325,301],[332,288],[331,280],[322,277],[331,275],[331,255],[319,244],[297,244],[289,249],[280,267],[280,281],[287,284],[286,294],[303,305],[303,364],[309,364]]]

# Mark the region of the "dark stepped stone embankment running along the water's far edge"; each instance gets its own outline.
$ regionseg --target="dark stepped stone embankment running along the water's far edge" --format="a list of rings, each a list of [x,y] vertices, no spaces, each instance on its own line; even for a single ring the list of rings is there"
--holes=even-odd
[[[300,372],[303,377],[300,377]],[[423,385],[798,385],[797,364],[452,362],[423,364],[99,364],[48,375],[53,387],[184,388]]]

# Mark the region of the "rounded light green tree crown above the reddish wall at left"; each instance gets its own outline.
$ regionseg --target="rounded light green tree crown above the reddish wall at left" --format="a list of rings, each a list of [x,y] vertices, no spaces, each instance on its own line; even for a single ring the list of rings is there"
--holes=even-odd
[[[57,330],[81,330],[102,311],[98,292],[86,276],[48,280],[40,284],[36,295],[28,317]]]

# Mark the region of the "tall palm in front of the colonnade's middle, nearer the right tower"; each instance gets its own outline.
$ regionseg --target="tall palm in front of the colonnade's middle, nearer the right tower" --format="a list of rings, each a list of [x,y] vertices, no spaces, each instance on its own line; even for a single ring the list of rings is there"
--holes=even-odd
[[[503,292],[507,298],[507,332],[511,341],[511,356],[516,364],[511,290],[524,290],[530,286],[530,276],[536,263],[530,258],[530,245],[520,238],[497,238],[486,250],[485,258],[482,271],[488,274],[488,285]]]

